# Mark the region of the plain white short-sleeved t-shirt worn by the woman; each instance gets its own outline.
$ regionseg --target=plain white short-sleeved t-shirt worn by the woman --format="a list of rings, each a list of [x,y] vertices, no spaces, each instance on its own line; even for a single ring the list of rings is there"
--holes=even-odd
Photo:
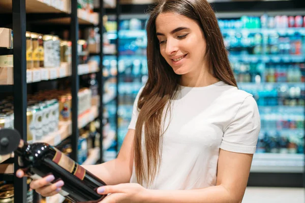
[[[129,129],[136,126],[141,90]],[[179,86],[171,107],[171,114],[165,118],[165,128],[169,119],[171,122],[163,134],[160,171],[152,185],[144,183],[145,188],[186,190],[215,186],[220,148],[255,153],[260,116],[251,94],[222,81],[205,87]],[[130,182],[137,183],[135,166]]]

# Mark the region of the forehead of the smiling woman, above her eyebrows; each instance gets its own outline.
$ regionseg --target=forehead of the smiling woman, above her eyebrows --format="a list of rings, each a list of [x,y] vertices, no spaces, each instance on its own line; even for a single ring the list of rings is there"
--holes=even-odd
[[[194,20],[180,14],[161,13],[156,18],[157,32],[167,33],[177,27],[188,27],[192,29],[196,26],[199,28],[199,26]]]

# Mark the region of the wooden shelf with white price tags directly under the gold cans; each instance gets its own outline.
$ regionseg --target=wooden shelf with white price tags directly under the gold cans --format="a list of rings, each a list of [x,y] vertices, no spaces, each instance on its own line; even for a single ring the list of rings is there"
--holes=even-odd
[[[99,71],[98,63],[90,61],[87,64],[78,65],[78,74],[84,75]],[[26,83],[55,80],[71,76],[71,64],[63,62],[60,67],[26,70]],[[13,67],[0,67],[0,85],[13,84]]]

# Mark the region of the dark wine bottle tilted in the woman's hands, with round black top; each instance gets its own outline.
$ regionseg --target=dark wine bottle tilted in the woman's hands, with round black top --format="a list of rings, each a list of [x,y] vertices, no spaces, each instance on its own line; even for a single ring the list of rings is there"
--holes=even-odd
[[[0,129],[0,154],[11,151],[8,148],[16,148],[18,136],[16,130]],[[32,179],[52,174],[55,177],[52,183],[63,180],[65,185],[59,193],[73,202],[97,203],[106,196],[97,193],[98,187],[106,185],[102,180],[53,146],[46,143],[27,144],[19,136],[19,145],[12,151],[15,156],[18,155],[20,167]]]

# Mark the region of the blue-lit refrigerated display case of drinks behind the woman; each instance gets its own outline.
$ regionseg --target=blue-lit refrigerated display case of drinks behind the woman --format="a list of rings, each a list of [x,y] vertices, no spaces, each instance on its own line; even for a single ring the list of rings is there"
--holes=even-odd
[[[118,149],[133,101],[147,80],[147,17],[120,15]],[[272,177],[269,183],[261,181],[264,186],[300,186],[301,180],[279,179],[299,179],[304,172],[305,17],[266,12],[219,17],[219,25],[238,88],[253,94],[259,107],[261,131],[250,180],[263,174]],[[115,35],[108,33],[109,38]]]

